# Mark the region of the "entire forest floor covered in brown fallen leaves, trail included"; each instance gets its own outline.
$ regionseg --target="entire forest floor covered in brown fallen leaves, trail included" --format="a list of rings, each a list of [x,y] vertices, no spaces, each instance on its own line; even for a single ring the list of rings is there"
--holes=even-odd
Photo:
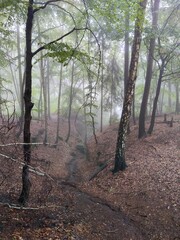
[[[32,187],[24,207],[17,202],[21,141],[15,139],[15,129],[1,134],[0,240],[180,239],[180,116],[174,120],[169,127],[157,118],[153,134],[142,140],[137,139],[138,127],[132,126],[128,168],[114,175],[118,124],[97,133],[98,144],[89,139],[85,149],[74,124],[69,142],[63,140],[63,119],[58,145],[55,120],[49,122],[50,144],[41,144],[43,123],[33,120]]]

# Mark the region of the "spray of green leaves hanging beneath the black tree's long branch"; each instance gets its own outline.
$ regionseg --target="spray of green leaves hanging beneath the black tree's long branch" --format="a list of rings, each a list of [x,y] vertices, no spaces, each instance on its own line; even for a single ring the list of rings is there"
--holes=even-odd
[[[56,42],[53,44],[49,44],[46,49],[48,53],[44,55],[44,57],[51,57],[56,61],[63,63],[64,66],[68,65],[71,59],[76,59],[82,63],[92,63],[92,58],[84,51],[79,51],[77,48],[73,48],[67,43]]]

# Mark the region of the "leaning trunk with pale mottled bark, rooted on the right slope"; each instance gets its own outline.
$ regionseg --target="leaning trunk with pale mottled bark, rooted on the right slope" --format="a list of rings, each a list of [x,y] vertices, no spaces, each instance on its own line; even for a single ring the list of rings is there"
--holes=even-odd
[[[147,0],[140,2],[140,8],[137,12],[135,23],[134,40],[132,46],[131,63],[129,69],[127,91],[124,99],[123,110],[118,130],[118,138],[116,144],[115,165],[113,173],[125,170],[127,165],[125,161],[125,140],[127,135],[127,127],[131,115],[131,105],[134,97],[135,81],[137,77],[139,52],[141,45],[141,33],[145,16]]]

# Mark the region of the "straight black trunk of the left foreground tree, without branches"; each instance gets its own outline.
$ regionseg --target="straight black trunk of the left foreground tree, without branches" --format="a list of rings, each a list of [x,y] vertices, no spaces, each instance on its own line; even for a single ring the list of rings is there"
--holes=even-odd
[[[32,25],[33,25],[33,0],[29,0],[27,21],[26,21],[26,79],[25,79],[25,92],[24,92],[24,102],[25,102],[25,115],[24,115],[24,167],[22,171],[22,191],[19,197],[19,202],[25,204],[29,198],[29,192],[31,187],[31,182],[29,179],[29,165],[31,162],[31,133],[30,133],[30,123],[31,123],[31,110],[33,108],[33,103],[31,102],[31,92],[32,92],[32,49],[31,49],[31,39],[32,39]]]

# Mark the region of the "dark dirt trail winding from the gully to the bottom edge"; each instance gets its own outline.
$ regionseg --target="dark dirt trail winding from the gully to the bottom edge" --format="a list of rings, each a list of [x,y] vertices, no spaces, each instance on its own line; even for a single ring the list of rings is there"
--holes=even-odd
[[[78,183],[84,181],[78,168],[80,168],[80,159],[85,159],[85,155],[74,147],[71,156],[71,160],[67,163],[68,176],[64,181],[59,181],[59,185],[64,186],[66,194],[73,196],[72,202],[66,206],[71,209],[73,219],[85,224],[90,229],[89,236],[84,239],[148,239],[135,222],[120,209],[101,198],[83,192],[78,187]]]

